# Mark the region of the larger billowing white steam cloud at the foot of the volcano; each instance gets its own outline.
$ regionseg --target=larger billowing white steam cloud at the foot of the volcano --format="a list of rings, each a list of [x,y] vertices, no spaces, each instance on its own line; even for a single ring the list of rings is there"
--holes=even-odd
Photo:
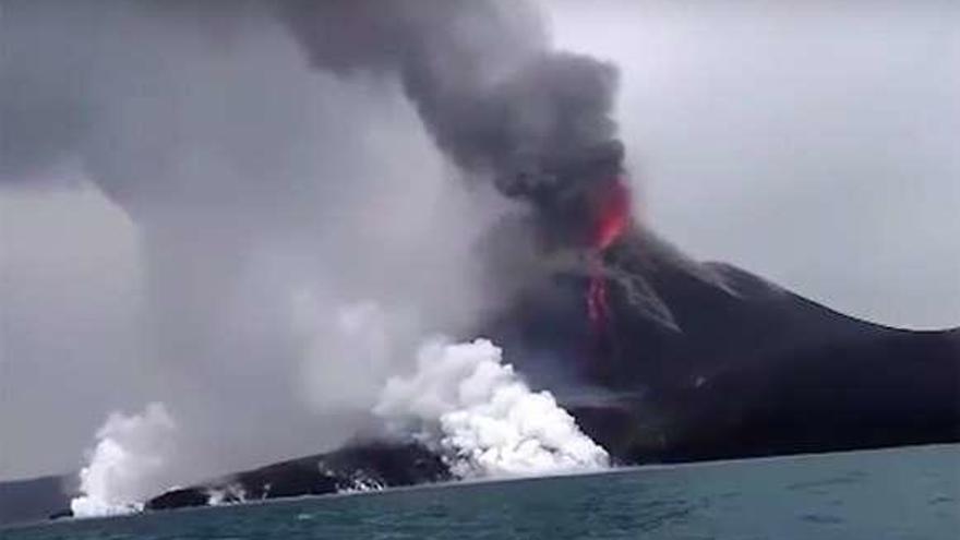
[[[487,339],[425,344],[417,372],[387,382],[375,412],[440,452],[461,478],[603,468],[607,452],[549,392],[532,392]]]

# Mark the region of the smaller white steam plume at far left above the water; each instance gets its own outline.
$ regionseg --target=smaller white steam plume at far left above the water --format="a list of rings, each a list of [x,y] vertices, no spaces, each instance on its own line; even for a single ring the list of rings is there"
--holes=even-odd
[[[97,445],[80,471],[81,495],[70,502],[76,517],[111,516],[142,509],[166,484],[177,424],[164,404],[139,415],[113,412],[97,431]]]

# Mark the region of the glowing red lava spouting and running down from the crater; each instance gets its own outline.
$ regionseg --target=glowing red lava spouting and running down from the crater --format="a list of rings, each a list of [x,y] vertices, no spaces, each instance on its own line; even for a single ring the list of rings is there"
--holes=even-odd
[[[629,191],[617,178],[600,193],[597,223],[590,239],[590,286],[587,289],[587,315],[596,332],[601,332],[610,313],[607,279],[603,276],[603,253],[623,236],[629,225]]]

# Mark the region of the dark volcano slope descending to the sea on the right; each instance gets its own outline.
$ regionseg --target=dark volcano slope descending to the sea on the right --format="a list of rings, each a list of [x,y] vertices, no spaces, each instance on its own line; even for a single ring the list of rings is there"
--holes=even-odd
[[[636,229],[591,321],[587,259],[555,257],[489,334],[620,463],[960,441],[960,328],[852,319]]]

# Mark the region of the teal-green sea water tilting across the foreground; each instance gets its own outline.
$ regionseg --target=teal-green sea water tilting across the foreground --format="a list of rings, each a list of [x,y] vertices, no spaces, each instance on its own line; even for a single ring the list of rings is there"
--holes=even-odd
[[[960,539],[960,445],[651,466],[0,529],[49,539]]]

